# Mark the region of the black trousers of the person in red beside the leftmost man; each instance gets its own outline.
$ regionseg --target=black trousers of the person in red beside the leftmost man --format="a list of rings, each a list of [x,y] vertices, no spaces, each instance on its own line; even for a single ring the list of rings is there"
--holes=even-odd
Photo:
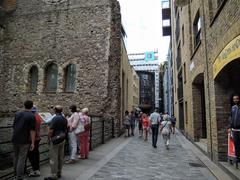
[[[32,165],[33,171],[39,170],[39,142],[40,140],[36,140],[33,151],[28,151],[28,159]]]

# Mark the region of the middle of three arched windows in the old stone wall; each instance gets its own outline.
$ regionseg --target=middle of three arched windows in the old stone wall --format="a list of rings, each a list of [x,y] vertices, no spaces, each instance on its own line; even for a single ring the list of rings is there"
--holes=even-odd
[[[46,91],[57,91],[58,67],[56,64],[50,64],[46,68]]]

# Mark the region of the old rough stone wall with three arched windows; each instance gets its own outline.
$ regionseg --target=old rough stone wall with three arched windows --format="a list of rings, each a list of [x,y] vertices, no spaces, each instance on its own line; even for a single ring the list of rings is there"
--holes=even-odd
[[[117,0],[0,1],[0,124],[32,99],[120,120],[121,15]]]

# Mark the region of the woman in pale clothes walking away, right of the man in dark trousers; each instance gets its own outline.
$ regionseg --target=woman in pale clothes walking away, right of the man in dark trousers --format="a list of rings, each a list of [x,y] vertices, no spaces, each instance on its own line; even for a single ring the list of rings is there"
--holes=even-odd
[[[163,121],[161,122],[160,132],[162,133],[164,144],[167,149],[169,149],[170,144],[170,133],[172,130],[172,123],[170,121],[169,115],[163,115]]]

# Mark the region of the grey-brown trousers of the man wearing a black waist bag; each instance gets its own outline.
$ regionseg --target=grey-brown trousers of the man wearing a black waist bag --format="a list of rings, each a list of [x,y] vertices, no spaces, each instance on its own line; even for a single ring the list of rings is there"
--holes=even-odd
[[[52,177],[56,178],[58,174],[62,173],[63,158],[64,158],[65,141],[60,144],[52,144],[50,142],[49,156]]]

